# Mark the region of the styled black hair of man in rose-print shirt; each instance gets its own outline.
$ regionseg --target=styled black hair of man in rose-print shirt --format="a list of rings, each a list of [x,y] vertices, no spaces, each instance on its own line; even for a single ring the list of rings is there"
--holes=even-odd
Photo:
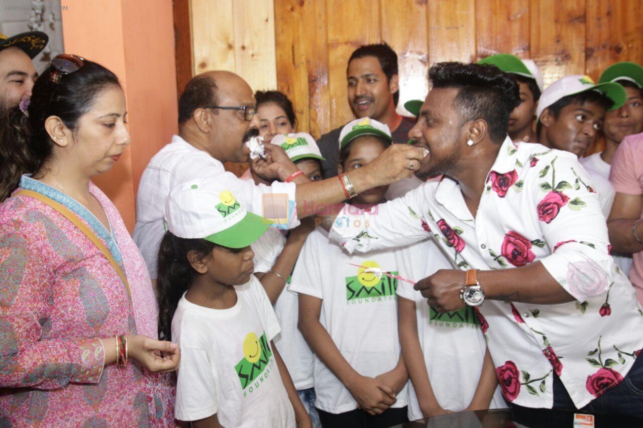
[[[458,94],[453,107],[462,114],[461,125],[482,119],[489,127],[489,138],[501,144],[507,136],[509,113],[520,105],[516,80],[491,64],[438,62],[429,70],[433,88],[453,87]]]

